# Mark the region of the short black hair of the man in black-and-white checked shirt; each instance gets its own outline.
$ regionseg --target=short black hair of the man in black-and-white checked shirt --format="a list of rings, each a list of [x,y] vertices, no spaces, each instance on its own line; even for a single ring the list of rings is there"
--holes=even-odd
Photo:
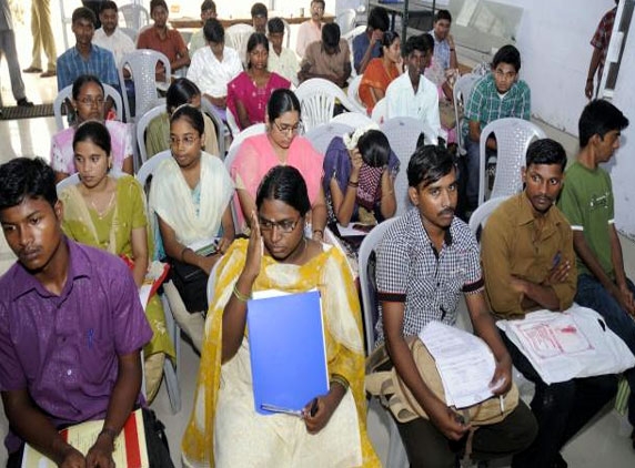
[[[443,146],[426,144],[419,146],[407,164],[407,184],[416,187],[435,183],[454,169],[452,154]]]

